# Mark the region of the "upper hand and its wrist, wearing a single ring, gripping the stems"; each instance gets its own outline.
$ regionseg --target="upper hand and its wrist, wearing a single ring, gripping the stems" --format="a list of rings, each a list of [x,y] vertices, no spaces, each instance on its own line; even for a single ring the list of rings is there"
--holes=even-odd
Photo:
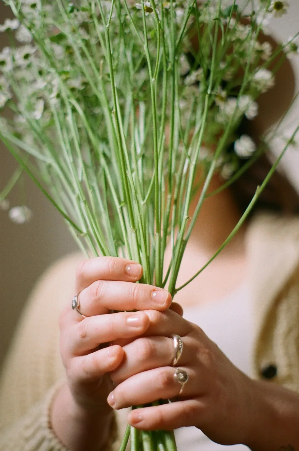
[[[60,315],[60,352],[67,385],[57,395],[51,416],[56,435],[71,450],[81,449],[80,442],[87,450],[86,431],[91,437],[94,423],[98,434],[99,421],[104,426],[111,418],[107,396],[114,386],[109,373],[125,358],[122,345],[149,327],[143,310],[170,307],[166,290],[135,283],[142,273],[141,265],[124,258],[90,258],[78,266],[75,290],[80,311],[87,318],[72,310],[70,301]]]

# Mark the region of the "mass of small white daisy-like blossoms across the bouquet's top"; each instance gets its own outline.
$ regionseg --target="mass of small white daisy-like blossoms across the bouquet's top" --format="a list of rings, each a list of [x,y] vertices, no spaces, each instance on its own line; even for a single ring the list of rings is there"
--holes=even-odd
[[[234,141],[235,132],[244,118],[253,120],[258,115],[258,97],[275,85],[275,73],[269,69],[269,65],[277,52],[267,39],[259,40],[257,26],[266,33],[270,18],[281,17],[287,12],[288,1],[256,1],[250,24],[231,0],[207,0],[198,3],[196,14],[192,1],[165,1],[162,4],[158,0],[139,0],[138,3],[128,1],[127,9],[124,8],[124,1],[120,1],[117,14],[113,2],[100,2],[106,21],[110,23],[112,66],[123,113],[124,106],[128,107],[130,89],[130,95],[136,105],[140,101],[144,102],[146,109],[150,105],[151,80],[144,53],[143,9],[146,15],[149,57],[152,59],[152,68],[159,68],[156,72],[157,87],[160,86],[163,76],[163,39],[166,39],[167,45],[173,39],[176,40],[183,29],[182,21],[188,16],[187,13],[190,13],[184,24],[186,32],[181,45],[178,46],[178,54],[175,55],[176,66],[171,66],[170,59],[167,59],[167,70],[178,71],[175,77],[175,95],[178,96],[176,105],[179,107],[181,124],[183,127],[189,124],[188,127],[193,129],[200,115],[200,102],[204,103],[204,96],[207,90],[211,89],[204,142],[207,146],[215,144],[215,137],[221,136],[231,126],[227,146],[235,142],[232,146],[233,152],[227,152],[227,155],[223,156],[222,166],[219,167],[222,167],[226,176],[234,172],[238,159],[249,158],[255,152],[255,146],[247,135],[242,135]],[[111,12],[112,5],[114,11]],[[14,131],[19,142],[23,142],[24,148],[32,155],[38,154],[39,149],[46,148],[46,144],[41,144],[36,135],[33,137],[30,121],[37,121],[36,127],[40,127],[39,137],[45,136],[52,142],[56,133],[53,133],[53,124],[59,122],[60,115],[68,118],[76,115],[77,112],[72,110],[76,105],[77,111],[81,108],[84,114],[92,116],[92,120],[98,120],[101,133],[104,133],[102,124],[105,124],[106,117],[101,107],[101,92],[105,92],[108,104],[113,104],[110,69],[106,60],[107,53],[103,50],[106,40],[105,27],[100,19],[98,4],[91,0],[66,0],[64,6],[65,15],[62,18],[60,9],[55,8],[55,2],[22,0],[20,16],[6,19],[0,24],[0,32],[9,32],[21,43],[0,51],[0,110],[6,106],[14,111],[14,121],[9,122],[9,130]],[[160,41],[157,41],[156,22],[161,20],[162,15],[166,31],[160,35]],[[173,31],[170,27],[171,18],[175,18],[175,23],[172,22]],[[214,21],[216,18],[218,22]],[[196,20],[202,32],[201,46],[203,49],[205,46],[210,49],[207,52],[199,52],[198,55],[192,51],[193,44],[188,32],[194,32]],[[219,60],[216,61],[213,74],[215,82],[212,83],[212,88],[208,88],[212,70],[211,35],[208,31],[211,23],[221,23],[220,28],[225,30],[225,47],[228,50],[222,52],[218,49],[216,54]],[[42,46],[36,39],[36,32],[38,39],[43,40]],[[171,33],[174,33],[173,37]],[[157,59],[158,42],[160,57]],[[283,47],[287,56],[299,53],[297,41],[292,37]],[[122,56],[116,56],[119,53]],[[245,68],[248,69],[246,77]],[[171,114],[170,86],[168,78],[166,122],[170,122]],[[161,83],[161,89],[157,90],[158,111],[162,110],[162,92]],[[65,110],[66,98],[71,98],[73,105],[68,111]],[[78,124],[78,129],[80,126],[82,127],[82,124]],[[57,133],[60,134],[60,130]],[[73,130],[73,133],[77,131]],[[109,138],[106,136],[103,139]],[[181,146],[181,138],[178,138],[176,143],[180,148],[186,148],[186,144]]]

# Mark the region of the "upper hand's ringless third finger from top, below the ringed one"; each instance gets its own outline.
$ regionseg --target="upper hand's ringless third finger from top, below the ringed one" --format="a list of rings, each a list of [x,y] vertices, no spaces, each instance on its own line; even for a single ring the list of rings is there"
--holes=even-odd
[[[102,343],[141,335],[148,326],[149,318],[144,312],[110,313],[85,318],[68,331],[68,350],[70,354],[83,355]]]

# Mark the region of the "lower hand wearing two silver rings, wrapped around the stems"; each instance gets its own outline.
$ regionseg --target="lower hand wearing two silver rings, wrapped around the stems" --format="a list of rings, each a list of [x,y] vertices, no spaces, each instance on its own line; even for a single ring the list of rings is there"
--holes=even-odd
[[[246,444],[256,418],[255,382],[221,352],[200,327],[172,310],[145,310],[150,318],[146,336],[123,346],[123,363],[111,373],[117,385],[108,397],[114,409],[143,405],[158,399],[169,404],[134,409],[129,423],[138,429],[172,430],[196,426],[222,445]],[[183,341],[176,367],[189,380],[181,390],[172,366],[172,334]]]

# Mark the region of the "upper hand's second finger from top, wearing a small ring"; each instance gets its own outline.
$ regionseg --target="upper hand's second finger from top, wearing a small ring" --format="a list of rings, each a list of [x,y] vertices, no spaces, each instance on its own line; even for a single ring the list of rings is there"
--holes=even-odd
[[[93,282],[80,296],[80,310],[87,317],[109,313],[110,310],[165,310],[171,295],[162,288],[147,284],[99,280]],[[76,313],[76,318],[82,317]]]

